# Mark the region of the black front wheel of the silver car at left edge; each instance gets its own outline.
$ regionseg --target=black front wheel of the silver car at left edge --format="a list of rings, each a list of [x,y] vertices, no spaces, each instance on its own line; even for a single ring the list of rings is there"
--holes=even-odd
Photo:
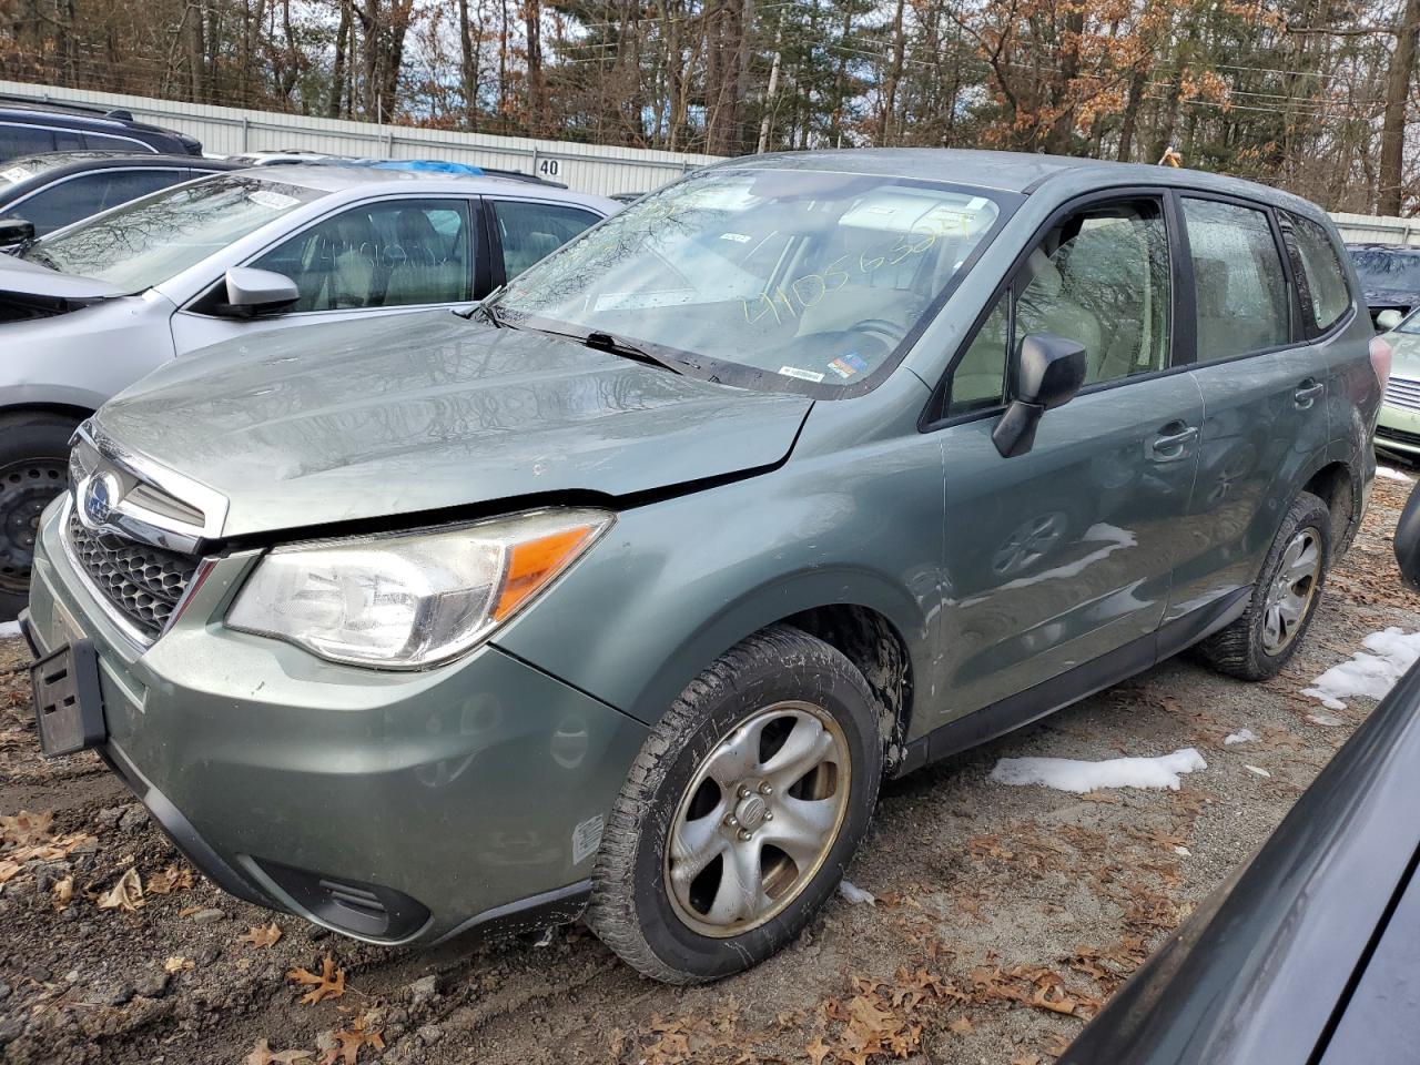
[[[74,417],[40,410],[0,416],[0,621],[30,599],[40,513],[68,487],[75,427]]]

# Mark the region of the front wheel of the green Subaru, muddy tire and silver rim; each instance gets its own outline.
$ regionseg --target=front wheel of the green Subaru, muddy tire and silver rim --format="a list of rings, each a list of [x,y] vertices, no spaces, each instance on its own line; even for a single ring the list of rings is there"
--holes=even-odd
[[[592,930],[633,968],[673,984],[717,980],[777,953],[834,893],[868,832],[889,731],[862,673],[807,632],[775,625],[730,649],[680,694],[628,774],[592,872]],[[734,757],[737,738],[753,755]],[[798,782],[797,768],[775,772],[809,740],[846,764],[821,763]],[[706,775],[711,772],[730,787]],[[750,787],[757,780],[770,788],[763,819],[754,805],[758,788]],[[748,794],[734,781],[748,781]],[[836,811],[816,851],[784,835],[807,824],[798,819],[807,805],[792,804],[808,801],[818,822],[828,824]],[[743,821],[727,825],[737,814]],[[682,826],[684,835],[677,835]],[[746,832],[750,842],[743,842]],[[699,861],[667,858],[673,835],[703,835],[700,853],[719,848],[720,856],[696,873]],[[780,851],[775,839],[801,856]],[[734,863],[736,853],[748,856]],[[670,876],[672,862],[679,876]],[[731,869],[754,875],[751,868],[761,885],[758,897],[744,903],[733,890],[743,880],[726,878]],[[723,903],[727,909],[717,912]]]

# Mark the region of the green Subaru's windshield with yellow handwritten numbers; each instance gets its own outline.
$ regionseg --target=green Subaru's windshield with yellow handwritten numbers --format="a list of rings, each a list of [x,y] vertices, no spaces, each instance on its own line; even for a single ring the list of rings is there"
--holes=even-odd
[[[816,170],[693,175],[521,274],[498,318],[848,386],[889,362],[991,231],[973,190]],[[719,376],[717,371],[717,376]],[[774,381],[774,378],[770,378]]]

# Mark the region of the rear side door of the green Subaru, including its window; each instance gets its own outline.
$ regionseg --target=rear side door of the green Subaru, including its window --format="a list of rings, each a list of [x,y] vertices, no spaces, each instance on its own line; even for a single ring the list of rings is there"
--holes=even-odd
[[[1193,192],[1179,210],[1204,420],[1170,621],[1257,579],[1331,436],[1328,358],[1308,342],[1274,212]]]

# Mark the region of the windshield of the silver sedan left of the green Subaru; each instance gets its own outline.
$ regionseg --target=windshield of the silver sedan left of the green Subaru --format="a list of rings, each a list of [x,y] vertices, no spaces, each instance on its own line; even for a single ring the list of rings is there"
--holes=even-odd
[[[142,293],[324,195],[244,173],[220,175],[60,230],[20,257]]]

